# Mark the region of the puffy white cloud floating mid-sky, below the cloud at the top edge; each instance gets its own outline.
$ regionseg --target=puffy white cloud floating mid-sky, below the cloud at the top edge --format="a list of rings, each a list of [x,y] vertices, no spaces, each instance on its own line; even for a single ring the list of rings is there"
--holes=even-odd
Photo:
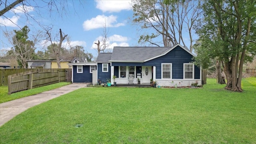
[[[119,27],[124,26],[124,23],[116,23],[117,16],[104,16],[98,15],[95,18],[91,18],[90,20],[86,20],[83,23],[84,30],[92,30],[96,28],[103,28],[105,23],[106,27]]]

